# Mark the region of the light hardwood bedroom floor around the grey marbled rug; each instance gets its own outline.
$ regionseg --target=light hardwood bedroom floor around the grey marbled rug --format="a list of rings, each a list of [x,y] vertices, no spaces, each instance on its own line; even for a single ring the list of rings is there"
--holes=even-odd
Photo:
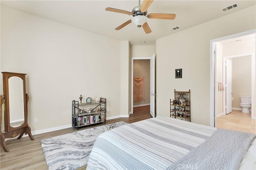
[[[106,124],[118,121],[133,123],[148,118],[151,118],[150,106],[134,107],[134,113],[130,115],[130,117],[108,120],[106,121]],[[79,131],[100,125],[104,125],[104,123],[86,126],[80,128]],[[6,141],[6,145],[8,146],[10,152],[4,152],[4,150],[1,147],[0,170],[48,170],[48,166],[44,158],[44,153],[42,151],[40,141],[42,139],[63,135],[66,133],[72,133],[74,131],[77,131],[77,129],[68,128],[59,131],[33,135],[35,138],[34,141],[31,141],[29,137],[23,137],[21,139],[13,139]],[[79,168],[79,170],[85,169],[86,166]]]

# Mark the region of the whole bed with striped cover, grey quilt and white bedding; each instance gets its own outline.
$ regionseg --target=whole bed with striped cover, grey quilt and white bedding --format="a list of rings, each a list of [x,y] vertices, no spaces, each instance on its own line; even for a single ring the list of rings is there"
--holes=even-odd
[[[87,170],[255,169],[255,146],[250,133],[155,117],[99,135]]]

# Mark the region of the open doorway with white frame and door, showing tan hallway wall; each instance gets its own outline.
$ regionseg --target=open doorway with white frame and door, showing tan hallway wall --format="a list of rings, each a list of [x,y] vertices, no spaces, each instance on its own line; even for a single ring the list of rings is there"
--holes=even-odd
[[[134,67],[138,70],[134,71]],[[150,106],[150,115],[155,117],[155,54],[152,57],[133,57],[131,76],[131,114],[134,106]],[[134,101],[134,77],[143,79],[146,84],[144,100]]]

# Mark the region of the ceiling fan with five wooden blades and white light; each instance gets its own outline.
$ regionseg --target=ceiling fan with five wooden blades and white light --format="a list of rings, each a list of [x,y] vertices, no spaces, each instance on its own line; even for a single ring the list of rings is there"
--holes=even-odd
[[[139,0],[139,6],[136,6],[132,9],[132,12],[124,11],[124,10],[118,10],[115,8],[106,8],[106,11],[110,12],[118,12],[122,14],[128,14],[132,15],[133,18],[131,20],[126,21],[125,23],[119,25],[116,27],[116,30],[120,30],[129,23],[133,22],[137,27],[142,27],[145,31],[145,33],[151,33],[151,29],[148,26],[147,20],[149,19],[165,19],[165,20],[173,20],[176,17],[176,14],[148,14],[147,10],[149,6],[152,4],[154,0],[143,0],[142,5],[140,6],[140,0]]]

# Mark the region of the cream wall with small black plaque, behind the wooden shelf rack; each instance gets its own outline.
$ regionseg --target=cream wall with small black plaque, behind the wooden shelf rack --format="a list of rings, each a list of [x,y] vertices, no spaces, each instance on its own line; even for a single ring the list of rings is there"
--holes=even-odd
[[[255,27],[256,13],[252,6],[158,39],[156,115],[170,116],[174,89],[190,89],[191,121],[210,125],[210,40]],[[182,78],[175,79],[176,68],[182,68]]]

